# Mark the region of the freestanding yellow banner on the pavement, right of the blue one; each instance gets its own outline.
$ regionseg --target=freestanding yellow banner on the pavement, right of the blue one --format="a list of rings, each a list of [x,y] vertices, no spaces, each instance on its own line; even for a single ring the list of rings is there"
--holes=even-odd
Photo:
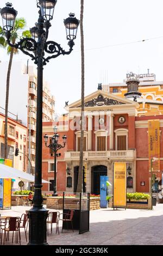
[[[113,207],[126,208],[126,163],[114,163]]]

